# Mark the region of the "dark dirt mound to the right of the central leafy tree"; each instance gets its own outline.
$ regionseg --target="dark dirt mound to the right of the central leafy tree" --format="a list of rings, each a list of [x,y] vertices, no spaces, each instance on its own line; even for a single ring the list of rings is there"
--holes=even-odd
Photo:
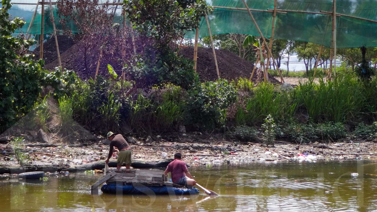
[[[239,77],[250,78],[254,68],[253,63],[225,49],[216,49],[215,51],[221,78],[227,80],[236,80]],[[194,48],[183,47],[179,51],[179,54],[193,60]],[[217,79],[215,60],[213,59],[211,48],[198,47],[196,68],[201,81],[213,81]],[[258,71],[254,73],[253,81],[256,81],[257,73]],[[273,76],[268,75],[268,77],[272,83],[279,83]]]

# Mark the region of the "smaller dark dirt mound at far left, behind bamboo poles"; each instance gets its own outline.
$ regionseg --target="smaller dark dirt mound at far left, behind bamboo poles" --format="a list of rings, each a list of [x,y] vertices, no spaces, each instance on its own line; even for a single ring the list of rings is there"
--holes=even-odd
[[[66,36],[66,35],[58,35],[58,43],[59,43],[59,52],[60,55],[63,54],[63,52],[67,51],[72,45],[75,44],[75,41],[72,37]],[[40,46],[34,49],[34,59],[39,59],[39,52]],[[53,60],[57,60],[58,55],[56,52],[56,45],[55,45],[55,37],[51,36],[45,43],[43,43],[43,60],[44,64],[49,64]],[[57,65],[58,66],[58,65]],[[55,68],[55,67],[54,67]]]

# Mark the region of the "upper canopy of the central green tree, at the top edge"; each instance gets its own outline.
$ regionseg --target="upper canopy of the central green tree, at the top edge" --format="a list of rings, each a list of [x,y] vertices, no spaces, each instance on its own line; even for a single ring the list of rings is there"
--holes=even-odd
[[[124,5],[134,29],[157,40],[162,48],[183,37],[185,30],[195,29],[201,17],[211,12],[205,0],[124,0]]]

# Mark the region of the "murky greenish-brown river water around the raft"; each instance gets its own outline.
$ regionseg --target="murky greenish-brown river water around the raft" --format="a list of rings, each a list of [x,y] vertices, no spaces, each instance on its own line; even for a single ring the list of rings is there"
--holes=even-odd
[[[366,165],[365,165],[366,164]],[[377,211],[373,161],[253,163],[191,167],[219,197],[91,195],[103,175],[2,182],[0,211]],[[358,177],[351,173],[358,172]]]

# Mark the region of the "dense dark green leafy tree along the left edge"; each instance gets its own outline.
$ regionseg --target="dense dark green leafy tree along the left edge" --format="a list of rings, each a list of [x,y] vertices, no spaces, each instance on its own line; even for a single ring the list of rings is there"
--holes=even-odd
[[[13,37],[16,29],[25,22],[20,18],[11,20],[8,10],[9,0],[2,0],[0,9],[0,133],[12,126],[33,108],[41,91],[41,86],[52,85],[59,91],[58,80],[63,75],[47,72],[42,69],[43,61],[34,61],[32,55],[24,52],[33,40]],[[59,84],[59,86],[61,86]]]

